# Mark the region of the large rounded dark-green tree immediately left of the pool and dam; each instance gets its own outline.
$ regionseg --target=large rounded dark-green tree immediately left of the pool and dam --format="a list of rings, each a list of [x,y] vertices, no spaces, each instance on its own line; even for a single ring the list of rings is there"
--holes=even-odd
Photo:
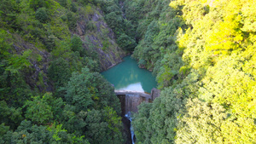
[[[76,107],[75,112],[87,111],[87,108],[113,107],[119,113],[119,100],[113,93],[108,81],[97,72],[82,68],[81,73],[73,72],[67,84],[67,103]]]

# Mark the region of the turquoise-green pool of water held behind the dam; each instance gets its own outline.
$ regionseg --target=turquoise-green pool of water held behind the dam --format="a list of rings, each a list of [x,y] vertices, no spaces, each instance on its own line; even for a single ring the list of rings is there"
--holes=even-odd
[[[131,90],[140,92],[151,92],[156,88],[155,77],[151,72],[139,68],[137,61],[126,56],[124,61],[102,72],[104,78],[114,85],[115,90]]]

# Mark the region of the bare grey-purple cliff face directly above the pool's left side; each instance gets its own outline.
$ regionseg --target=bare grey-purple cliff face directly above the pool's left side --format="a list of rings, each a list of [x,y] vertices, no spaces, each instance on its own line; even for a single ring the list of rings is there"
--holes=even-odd
[[[93,14],[80,15],[73,34],[81,37],[84,49],[93,48],[96,51],[102,71],[116,65],[127,55],[116,43],[113,30],[105,22],[101,9],[95,9]]]

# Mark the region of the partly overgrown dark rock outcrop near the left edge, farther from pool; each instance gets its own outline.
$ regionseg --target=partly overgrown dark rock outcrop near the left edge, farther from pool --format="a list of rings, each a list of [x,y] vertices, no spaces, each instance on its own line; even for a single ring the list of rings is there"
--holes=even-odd
[[[9,49],[9,52],[15,55],[14,57],[17,60],[20,60],[20,72],[24,73],[26,84],[32,90],[52,91],[53,86],[49,83],[49,78],[47,77],[47,69],[50,62],[49,52],[45,49],[38,49],[34,43],[26,42],[17,34],[12,34],[11,41],[13,42],[11,45],[13,49]],[[22,66],[24,64],[21,63],[23,58],[29,62],[26,66]]]

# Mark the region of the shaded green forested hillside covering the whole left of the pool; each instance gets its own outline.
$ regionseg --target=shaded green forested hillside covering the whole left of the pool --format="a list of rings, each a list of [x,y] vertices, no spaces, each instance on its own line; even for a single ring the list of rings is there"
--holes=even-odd
[[[0,143],[124,142],[96,52],[117,44],[92,15],[105,21],[94,1],[1,0]]]

